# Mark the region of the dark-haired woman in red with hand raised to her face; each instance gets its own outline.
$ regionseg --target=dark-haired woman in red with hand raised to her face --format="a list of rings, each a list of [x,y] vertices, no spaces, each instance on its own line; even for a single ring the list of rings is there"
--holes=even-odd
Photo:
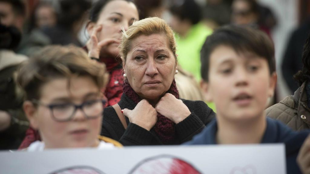
[[[126,0],[100,0],[90,11],[87,31],[91,36],[87,42],[89,57],[105,63],[110,78],[105,89],[108,106],[119,102],[122,95],[124,78],[122,75],[119,43],[122,28],[128,27],[139,20],[135,4]]]

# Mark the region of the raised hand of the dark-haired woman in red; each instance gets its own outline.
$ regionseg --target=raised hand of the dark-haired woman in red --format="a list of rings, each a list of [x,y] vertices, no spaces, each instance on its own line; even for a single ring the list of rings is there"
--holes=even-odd
[[[100,51],[102,47],[107,46],[113,42],[117,42],[115,39],[104,39],[102,41],[98,41],[97,35],[101,32],[102,25],[96,27],[91,33],[91,38],[87,41],[86,47],[88,49],[88,57],[98,58],[100,56]]]

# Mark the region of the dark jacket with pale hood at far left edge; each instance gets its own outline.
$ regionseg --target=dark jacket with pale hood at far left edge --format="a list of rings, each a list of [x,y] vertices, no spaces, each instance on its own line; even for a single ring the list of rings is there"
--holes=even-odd
[[[11,116],[10,126],[0,131],[0,150],[17,149],[29,126],[22,109],[24,92],[16,83],[19,65],[27,59],[11,50],[0,50],[0,110]]]

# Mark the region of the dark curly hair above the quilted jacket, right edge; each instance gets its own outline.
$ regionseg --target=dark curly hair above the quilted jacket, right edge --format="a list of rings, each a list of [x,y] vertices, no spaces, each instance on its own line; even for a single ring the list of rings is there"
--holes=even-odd
[[[310,34],[303,46],[302,62],[302,69],[294,75],[294,80],[298,82],[299,86],[310,78]]]

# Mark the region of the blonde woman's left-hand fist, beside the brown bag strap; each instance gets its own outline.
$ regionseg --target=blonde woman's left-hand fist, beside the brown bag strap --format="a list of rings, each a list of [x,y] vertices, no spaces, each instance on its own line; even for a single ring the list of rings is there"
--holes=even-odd
[[[157,122],[157,112],[145,99],[141,100],[135,109],[123,109],[123,114],[131,123],[137,124],[150,131]]]

